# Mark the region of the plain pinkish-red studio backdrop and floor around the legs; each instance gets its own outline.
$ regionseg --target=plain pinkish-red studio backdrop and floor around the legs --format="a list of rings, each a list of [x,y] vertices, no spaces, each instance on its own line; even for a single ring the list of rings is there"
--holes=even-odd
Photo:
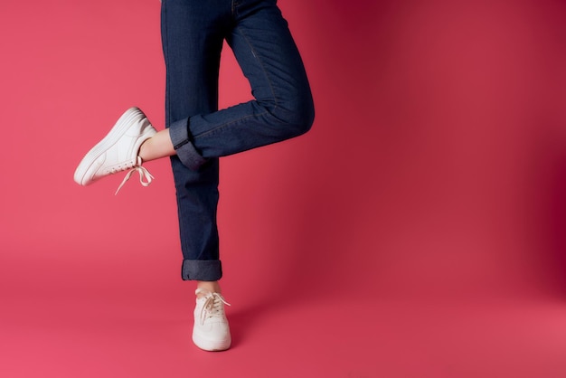
[[[72,181],[124,109],[164,127],[159,2],[0,3],[0,375],[565,376],[566,3],[279,5],[316,123],[222,159],[207,354],[169,162]]]

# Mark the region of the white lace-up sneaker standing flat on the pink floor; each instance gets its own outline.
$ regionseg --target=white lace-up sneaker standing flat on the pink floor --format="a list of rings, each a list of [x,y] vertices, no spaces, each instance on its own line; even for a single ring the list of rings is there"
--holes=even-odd
[[[230,348],[231,335],[224,305],[228,302],[218,293],[197,288],[194,307],[193,343],[205,351],[223,351]]]

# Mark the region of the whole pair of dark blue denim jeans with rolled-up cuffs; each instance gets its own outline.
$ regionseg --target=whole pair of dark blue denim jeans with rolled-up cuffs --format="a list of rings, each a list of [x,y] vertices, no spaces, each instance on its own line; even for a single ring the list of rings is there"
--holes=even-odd
[[[277,0],[163,0],[161,33],[182,278],[217,280],[219,157],[307,132],[313,99]],[[218,110],[224,40],[250,80],[254,99]]]

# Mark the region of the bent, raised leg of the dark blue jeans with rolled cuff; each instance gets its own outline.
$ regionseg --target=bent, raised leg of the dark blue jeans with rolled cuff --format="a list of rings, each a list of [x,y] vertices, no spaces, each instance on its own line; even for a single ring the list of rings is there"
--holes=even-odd
[[[209,159],[305,133],[314,119],[307,74],[275,0],[241,0],[226,39],[250,80],[254,100],[171,125],[175,152],[198,169]]]

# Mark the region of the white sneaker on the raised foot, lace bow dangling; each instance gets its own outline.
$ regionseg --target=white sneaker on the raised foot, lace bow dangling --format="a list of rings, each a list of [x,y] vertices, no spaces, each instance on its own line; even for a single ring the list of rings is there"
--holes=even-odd
[[[106,175],[129,170],[118,187],[117,194],[135,171],[139,173],[139,182],[142,185],[151,184],[154,177],[141,166],[142,160],[137,154],[142,143],[153,137],[156,132],[140,109],[127,109],[108,135],[82,158],[75,171],[75,182],[88,185]]]

